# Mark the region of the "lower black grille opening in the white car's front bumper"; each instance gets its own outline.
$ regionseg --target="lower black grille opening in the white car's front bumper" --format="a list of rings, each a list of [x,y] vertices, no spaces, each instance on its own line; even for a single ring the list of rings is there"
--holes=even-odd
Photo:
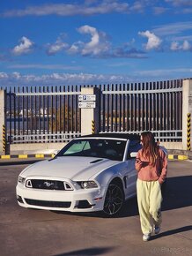
[[[30,199],[25,199],[25,200],[28,205],[37,206],[37,207],[69,208],[71,205],[71,202],[57,202],[57,201],[30,200]]]

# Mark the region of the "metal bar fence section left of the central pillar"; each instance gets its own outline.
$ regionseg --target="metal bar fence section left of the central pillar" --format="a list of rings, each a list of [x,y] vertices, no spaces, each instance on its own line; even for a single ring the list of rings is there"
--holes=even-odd
[[[81,118],[78,94],[77,86],[10,88],[6,104],[8,140],[63,142],[71,132],[78,136]]]

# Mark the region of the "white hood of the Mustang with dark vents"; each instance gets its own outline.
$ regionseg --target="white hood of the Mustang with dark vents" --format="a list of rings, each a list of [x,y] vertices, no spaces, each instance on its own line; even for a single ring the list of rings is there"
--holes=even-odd
[[[22,177],[62,177],[86,180],[103,169],[118,163],[104,158],[63,156],[34,163],[20,174]]]

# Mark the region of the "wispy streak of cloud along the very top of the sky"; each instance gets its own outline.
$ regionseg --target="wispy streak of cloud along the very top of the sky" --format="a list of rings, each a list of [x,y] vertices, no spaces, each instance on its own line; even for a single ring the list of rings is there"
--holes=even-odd
[[[191,13],[192,2],[191,0],[165,0],[165,6],[171,6],[170,8],[164,8],[161,6],[155,6],[159,4],[159,0],[85,0],[81,1],[68,1],[70,4],[41,4],[41,5],[28,5],[24,9],[12,9],[4,11],[1,16],[4,17],[24,17],[24,16],[88,16],[88,15],[105,15],[107,13],[138,13],[149,10],[151,7],[155,13],[162,13],[166,10],[171,10],[183,13]],[[53,2],[53,1],[52,1]],[[71,3],[74,2],[74,3]],[[162,1],[161,1],[162,2]],[[161,3],[159,5],[162,5]]]

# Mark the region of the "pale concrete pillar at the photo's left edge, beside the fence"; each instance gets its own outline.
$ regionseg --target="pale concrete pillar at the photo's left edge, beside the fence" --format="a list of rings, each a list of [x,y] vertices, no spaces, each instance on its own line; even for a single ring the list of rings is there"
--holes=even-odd
[[[5,90],[0,90],[0,154],[6,154]]]

